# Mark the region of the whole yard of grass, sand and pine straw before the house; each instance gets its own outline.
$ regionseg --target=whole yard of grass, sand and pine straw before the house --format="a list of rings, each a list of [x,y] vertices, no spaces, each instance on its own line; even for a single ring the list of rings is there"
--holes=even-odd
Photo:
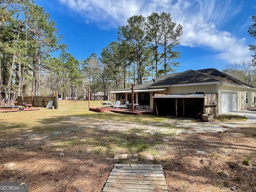
[[[0,113],[0,182],[29,182],[31,192],[100,192],[114,155],[127,153],[117,161],[162,164],[170,192],[256,192],[256,127],[245,120],[96,113],[88,101],[71,100],[58,110]]]

